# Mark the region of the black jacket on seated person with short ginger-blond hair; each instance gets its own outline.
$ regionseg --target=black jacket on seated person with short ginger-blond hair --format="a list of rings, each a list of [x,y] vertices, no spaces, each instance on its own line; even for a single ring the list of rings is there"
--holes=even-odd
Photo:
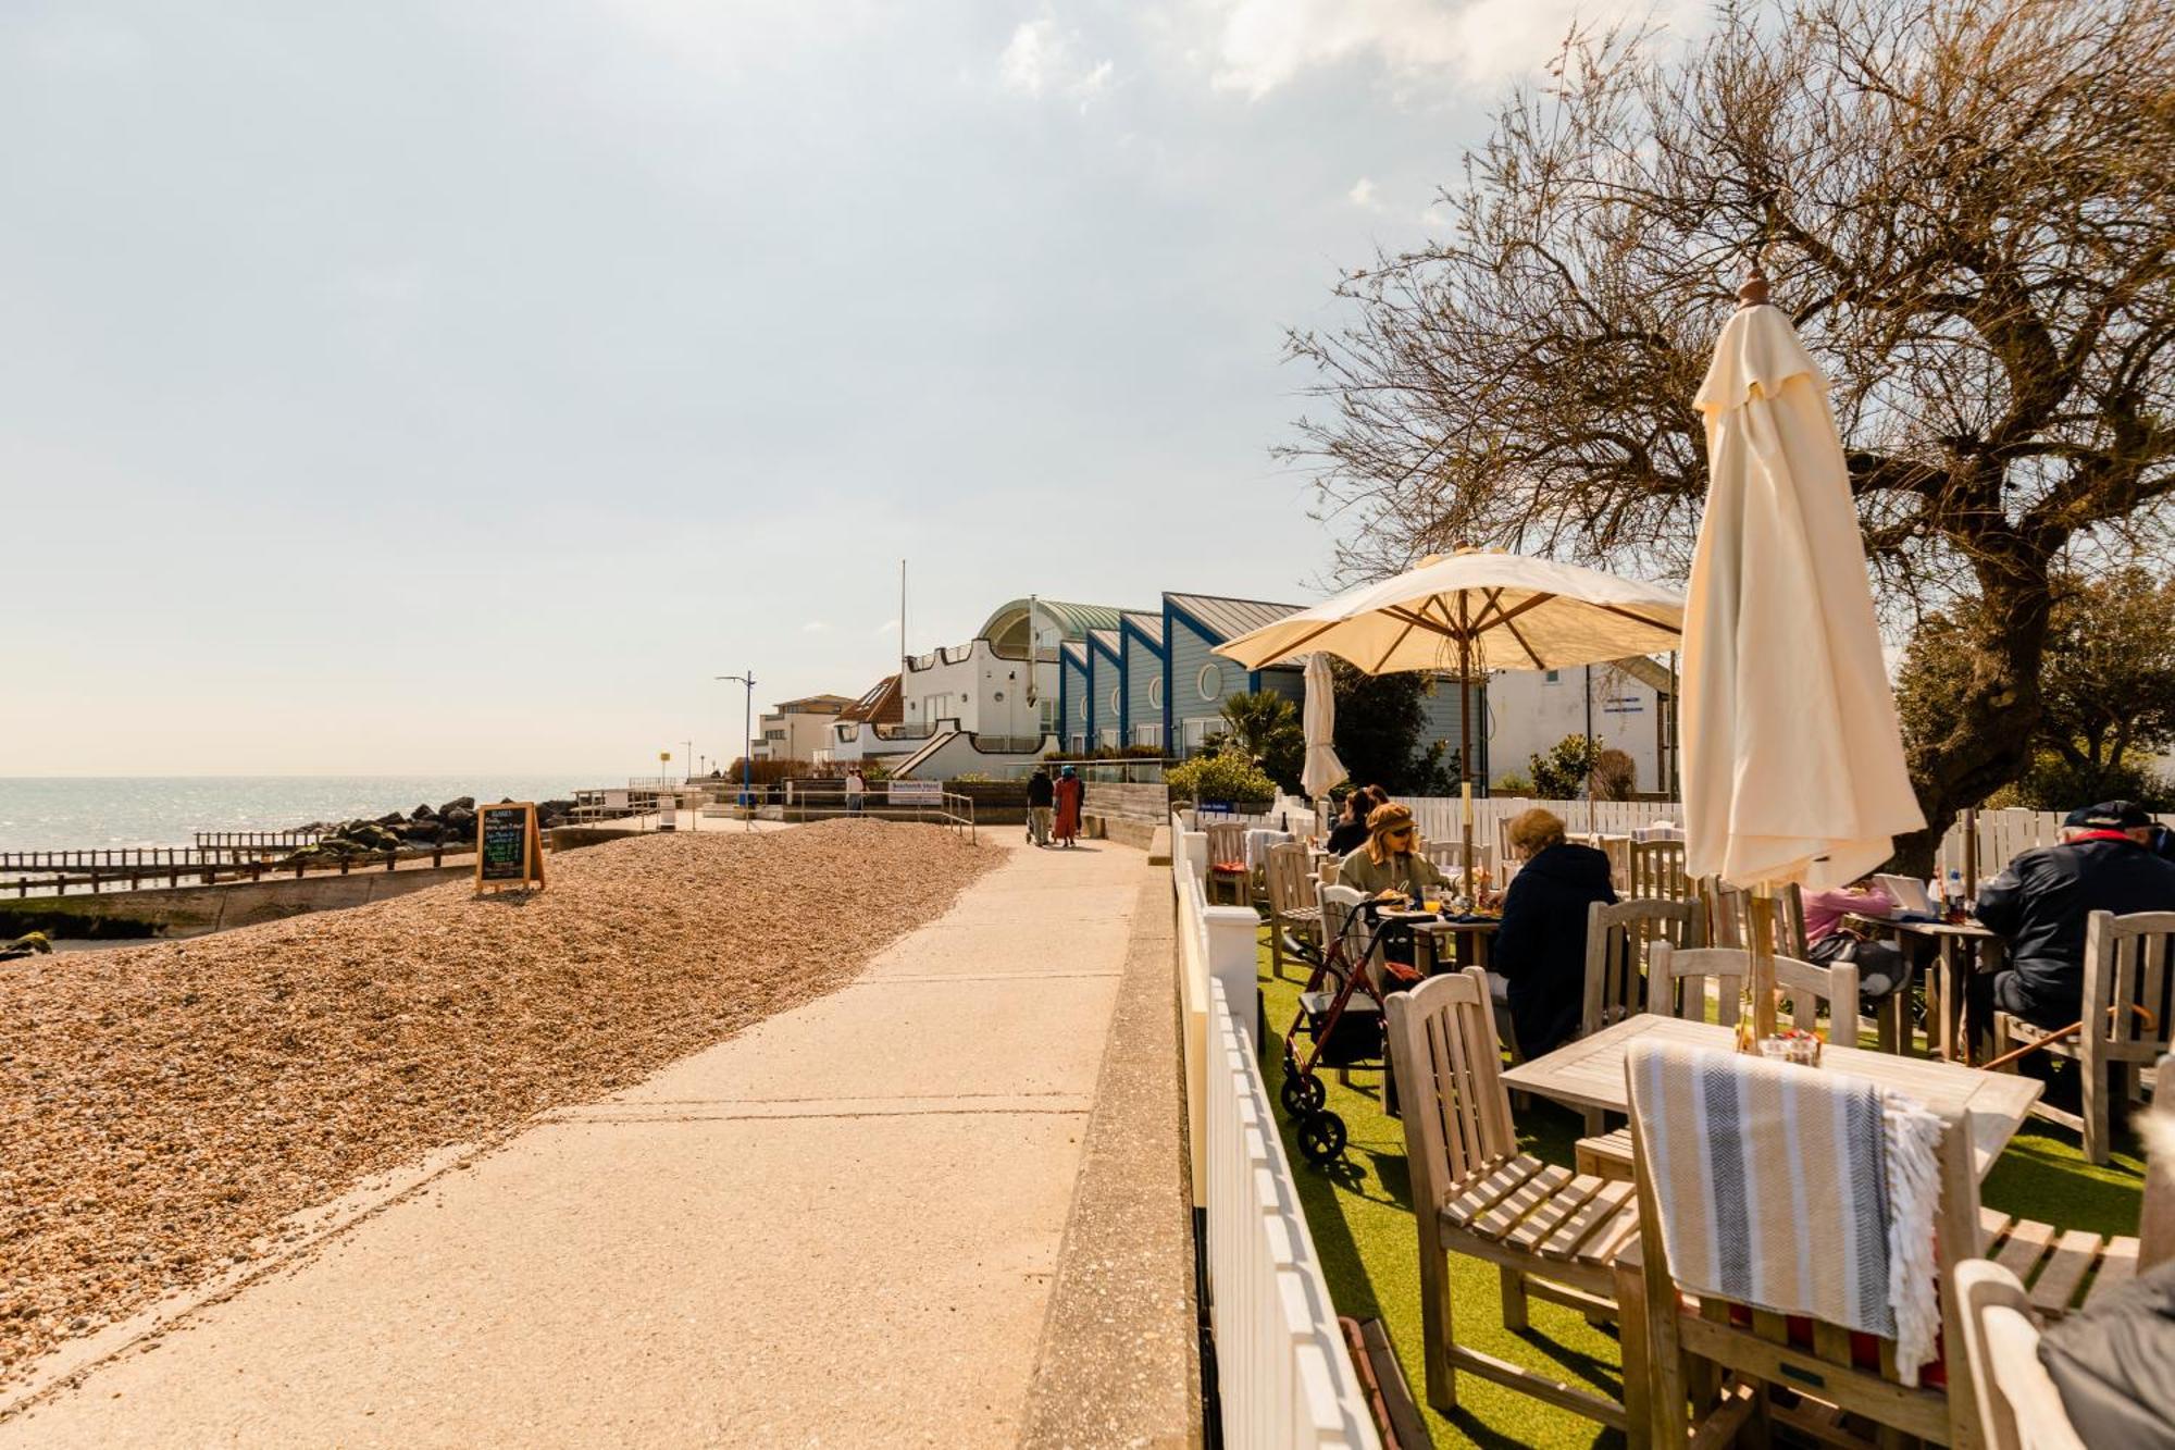
[[[1518,869],[1503,897],[1494,969],[1509,978],[1518,1052],[1533,1058],[1570,1041],[1586,1004],[1586,908],[1616,901],[1609,858],[1553,845]]]

